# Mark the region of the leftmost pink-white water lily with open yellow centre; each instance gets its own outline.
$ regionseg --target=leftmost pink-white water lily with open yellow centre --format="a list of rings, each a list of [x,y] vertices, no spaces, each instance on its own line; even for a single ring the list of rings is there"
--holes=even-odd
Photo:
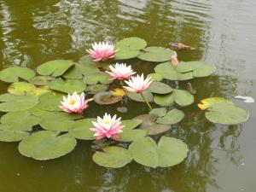
[[[84,100],[84,93],[80,96],[75,91],[72,95],[63,96],[60,108],[67,113],[83,113],[84,108],[88,107],[90,99]]]

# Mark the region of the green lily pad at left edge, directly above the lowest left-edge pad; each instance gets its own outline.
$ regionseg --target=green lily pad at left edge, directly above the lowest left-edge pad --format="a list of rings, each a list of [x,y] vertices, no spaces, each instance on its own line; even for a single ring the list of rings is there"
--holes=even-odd
[[[4,131],[32,131],[40,119],[29,111],[6,113],[1,117],[0,130]]]

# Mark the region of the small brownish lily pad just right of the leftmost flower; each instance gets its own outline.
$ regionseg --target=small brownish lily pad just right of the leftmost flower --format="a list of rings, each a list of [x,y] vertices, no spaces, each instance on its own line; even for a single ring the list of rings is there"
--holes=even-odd
[[[122,100],[121,96],[112,96],[111,92],[99,92],[93,96],[93,100],[99,105],[111,105]]]

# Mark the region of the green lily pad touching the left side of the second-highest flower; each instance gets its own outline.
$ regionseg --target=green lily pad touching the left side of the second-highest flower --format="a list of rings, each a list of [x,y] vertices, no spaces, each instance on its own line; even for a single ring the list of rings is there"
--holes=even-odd
[[[108,73],[98,72],[98,73],[90,73],[87,76],[84,76],[85,84],[110,84],[113,80],[110,80],[111,76]]]

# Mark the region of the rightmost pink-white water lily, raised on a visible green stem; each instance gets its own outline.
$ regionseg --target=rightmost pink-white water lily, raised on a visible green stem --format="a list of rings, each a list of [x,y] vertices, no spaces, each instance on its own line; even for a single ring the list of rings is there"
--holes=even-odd
[[[144,75],[142,76],[137,75],[136,77],[131,77],[129,81],[125,81],[126,84],[129,86],[124,86],[125,90],[135,92],[135,93],[142,93],[144,90],[147,90],[150,84],[153,83],[150,77],[144,79]]]

